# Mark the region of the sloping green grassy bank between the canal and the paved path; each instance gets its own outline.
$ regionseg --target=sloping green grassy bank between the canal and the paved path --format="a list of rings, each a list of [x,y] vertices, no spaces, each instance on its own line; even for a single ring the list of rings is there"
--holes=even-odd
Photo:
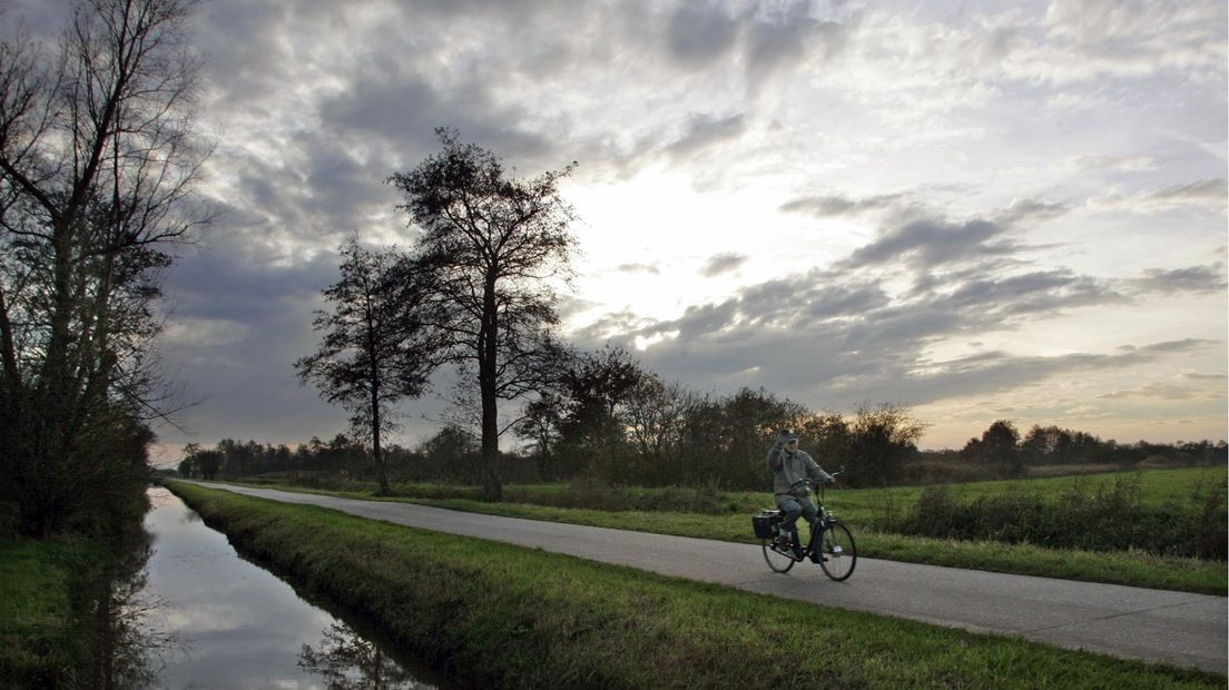
[[[796,605],[336,511],[173,484],[275,572],[466,685],[1223,688],[1218,674]]]

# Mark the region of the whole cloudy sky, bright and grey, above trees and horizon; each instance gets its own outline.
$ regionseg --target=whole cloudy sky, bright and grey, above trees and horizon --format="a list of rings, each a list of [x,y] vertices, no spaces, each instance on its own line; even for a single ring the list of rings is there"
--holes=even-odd
[[[21,0],[34,26],[54,2]],[[1223,0],[208,0],[205,192],[167,282],[170,448],[332,437],[300,387],[336,248],[413,236],[434,128],[579,162],[580,346],[709,393],[1227,437]],[[409,403],[404,442],[439,401]]]

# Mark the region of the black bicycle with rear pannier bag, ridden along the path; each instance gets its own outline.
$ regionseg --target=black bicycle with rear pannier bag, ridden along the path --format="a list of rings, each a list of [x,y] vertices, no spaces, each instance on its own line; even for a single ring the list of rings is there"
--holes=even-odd
[[[842,474],[844,468],[832,474]],[[841,521],[833,517],[832,512],[823,503],[823,485],[816,487],[810,479],[803,480],[807,491],[815,491],[819,498],[820,514],[811,525],[811,537],[807,540],[803,555],[794,554],[789,537],[780,532],[780,511],[764,508],[758,516],[752,517],[752,525],[756,537],[761,539],[764,561],[774,572],[789,572],[794,564],[810,559],[820,565],[823,573],[837,582],[844,582],[853,575],[853,568],[858,564],[858,549],[853,541],[853,533]]]

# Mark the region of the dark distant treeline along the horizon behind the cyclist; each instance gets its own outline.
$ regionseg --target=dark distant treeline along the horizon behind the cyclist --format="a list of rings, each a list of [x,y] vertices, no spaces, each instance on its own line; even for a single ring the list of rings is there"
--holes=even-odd
[[[606,356],[622,357],[616,351]],[[590,377],[600,378],[600,377]],[[757,490],[771,486],[764,455],[775,431],[791,427],[801,446],[828,470],[847,469],[849,486],[934,484],[1023,476],[1039,465],[1113,465],[1134,468],[1227,462],[1224,441],[1161,444],[1118,443],[1096,436],[1034,426],[1020,435],[1007,420],[995,421],[960,451],[921,451],[925,425],[893,405],[858,408],[853,415],[812,413],[766,390],[699,395],[662,386],[653,374],[618,398],[590,395],[585,404],[548,399],[528,405],[517,431],[527,443],[504,454],[511,483],[567,481],[578,476],[614,485],[717,486]],[[601,388],[590,387],[590,393]],[[578,387],[578,398],[585,388]],[[535,410],[538,405],[538,410]],[[386,449],[392,481],[478,484],[478,438],[446,426],[413,448]],[[224,440],[213,448],[186,448],[179,471],[190,476],[235,479],[268,473],[374,479],[364,444],[338,435],[291,448],[254,441]]]

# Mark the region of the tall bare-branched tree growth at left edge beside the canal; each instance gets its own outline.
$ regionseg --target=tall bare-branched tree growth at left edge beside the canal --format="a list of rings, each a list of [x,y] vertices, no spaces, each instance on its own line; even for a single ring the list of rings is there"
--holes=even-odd
[[[49,532],[157,415],[151,339],[193,184],[192,0],[87,0],[58,44],[0,43],[0,501]],[[109,476],[108,476],[109,475]]]

